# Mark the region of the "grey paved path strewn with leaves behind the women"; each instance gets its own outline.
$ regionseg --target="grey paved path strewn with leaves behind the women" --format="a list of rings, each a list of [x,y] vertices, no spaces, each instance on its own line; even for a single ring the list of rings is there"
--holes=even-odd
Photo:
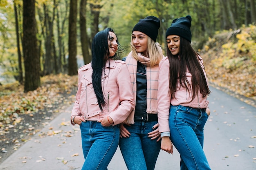
[[[256,108],[214,88],[211,91],[204,150],[212,170],[256,170]],[[2,162],[0,170],[80,170],[80,130],[70,125],[71,109]],[[179,170],[179,161],[177,150],[173,155],[161,151],[155,170]],[[127,170],[119,148],[108,170]]]

